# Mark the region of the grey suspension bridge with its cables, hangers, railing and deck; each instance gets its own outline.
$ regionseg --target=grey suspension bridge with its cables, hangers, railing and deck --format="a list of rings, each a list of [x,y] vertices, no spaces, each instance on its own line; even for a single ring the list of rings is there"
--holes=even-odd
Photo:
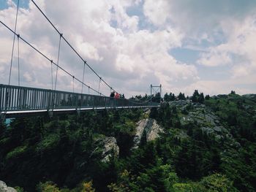
[[[1,84],[0,82],[0,115],[4,118],[12,118],[16,116],[23,115],[34,115],[39,113],[49,113],[53,115],[57,112],[81,112],[84,110],[102,110],[102,109],[110,109],[110,108],[136,108],[136,107],[159,107],[159,103],[152,102],[151,99],[154,95],[148,97],[146,101],[140,101],[135,99],[123,99],[123,98],[113,98],[109,96],[105,96],[100,92],[100,85],[104,83],[108,88],[110,88],[110,92],[116,92],[112,86],[108,84],[99,74],[87,63],[87,61],[78,53],[78,51],[71,45],[71,43],[64,37],[63,34],[53,25],[50,19],[45,15],[45,12],[39,8],[39,6],[31,0],[35,7],[37,7],[38,11],[42,13],[43,17],[47,20],[50,26],[54,28],[57,34],[59,34],[59,50],[57,60],[53,61],[50,59],[48,55],[42,53],[36,46],[32,45],[28,40],[24,39],[21,34],[16,32],[17,23],[18,23],[18,9],[19,9],[19,0],[17,2],[17,11],[15,17],[15,28],[12,29],[10,26],[7,26],[6,23],[0,20],[1,26],[6,28],[7,31],[13,34],[12,41],[12,55],[10,61],[10,73],[9,73],[9,81],[8,85]],[[14,55],[14,47],[15,47],[15,39],[18,42],[18,85],[10,85],[11,75],[12,75],[12,63],[13,63],[13,55]],[[19,43],[22,41],[25,45],[29,46],[36,53],[41,55],[51,64],[51,88],[30,88],[20,86],[20,64],[19,64]],[[78,58],[83,62],[83,78],[82,80],[78,79],[74,74],[68,72],[67,69],[64,69],[63,66],[59,65],[59,54],[61,49],[61,41],[65,42],[78,56]],[[53,74],[53,66],[56,66],[56,74],[55,77]],[[85,67],[88,67],[91,72],[96,75],[99,79],[99,87],[97,90],[95,88],[91,88],[84,82],[85,76]],[[56,90],[57,79],[58,79],[58,70],[61,70],[69,77],[72,78],[73,81],[73,92],[69,91],[58,91]],[[55,78],[55,80],[53,80]],[[77,81],[81,84],[81,92],[75,93],[74,91],[74,81]],[[83,93],[83,88],[88,88],[89,92],[93,92],[91,94]],[[151,85],[152,87],[152,85]]]

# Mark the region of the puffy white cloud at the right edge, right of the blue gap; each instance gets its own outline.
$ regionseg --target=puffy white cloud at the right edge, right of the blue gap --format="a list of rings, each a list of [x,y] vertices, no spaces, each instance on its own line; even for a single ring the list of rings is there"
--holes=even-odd
[[[256,72],[256,16],[249,15],[243,21],[222,22],[223,31],[228,34],[227,42],[210,47],[197,61],[205,66],[231,64],[232,77],[244,77]]]

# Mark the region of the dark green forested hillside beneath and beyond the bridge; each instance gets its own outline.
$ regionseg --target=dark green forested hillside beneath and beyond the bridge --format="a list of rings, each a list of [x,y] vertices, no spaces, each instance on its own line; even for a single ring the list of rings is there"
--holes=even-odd
[[[137,96],[147,99],[148,96]],[[150,111],[101,110],[1,123],[0,180],[17,191],[255,191],[256,96],[166,93]],[[148,113],[149,112],[149,113]],[[145,131],[143,119],[162,132]],[[104,141],[116,142],[103,160]]]

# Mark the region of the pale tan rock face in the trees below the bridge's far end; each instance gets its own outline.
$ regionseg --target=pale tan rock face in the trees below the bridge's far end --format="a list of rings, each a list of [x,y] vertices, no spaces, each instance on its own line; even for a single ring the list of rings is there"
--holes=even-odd
[[[137,123],[136,134],[133,139],[133,148],[137,148],[138,145],[140,144],[140,139],[143,136],[143,131],[146,131],[146,141],[149,142],[154,139],[157,139],[157,137],[159,137],[159,133],[161,133],[163,129],[161,126],[157,124],[157,120],[151,118],[140,120]]]

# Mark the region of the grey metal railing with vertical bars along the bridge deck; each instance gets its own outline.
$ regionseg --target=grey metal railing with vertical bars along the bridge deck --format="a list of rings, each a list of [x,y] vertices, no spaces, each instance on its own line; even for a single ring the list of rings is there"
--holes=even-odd
[[[158,105],[158,103],[150,101],[141,102],[131,99],[114,99],[107,96],[0,84],[0,112],[79,110],[99,107],[157,107]]]

